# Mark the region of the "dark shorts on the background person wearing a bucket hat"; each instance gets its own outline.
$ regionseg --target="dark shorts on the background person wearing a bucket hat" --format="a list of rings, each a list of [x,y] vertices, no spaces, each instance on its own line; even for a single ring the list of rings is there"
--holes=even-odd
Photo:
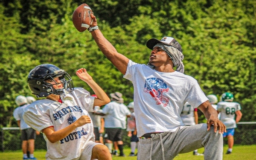
[[[121,128],[105,128],[105,134],[108,135],[108,140],[111,141],[122,141],[125,129]]]

